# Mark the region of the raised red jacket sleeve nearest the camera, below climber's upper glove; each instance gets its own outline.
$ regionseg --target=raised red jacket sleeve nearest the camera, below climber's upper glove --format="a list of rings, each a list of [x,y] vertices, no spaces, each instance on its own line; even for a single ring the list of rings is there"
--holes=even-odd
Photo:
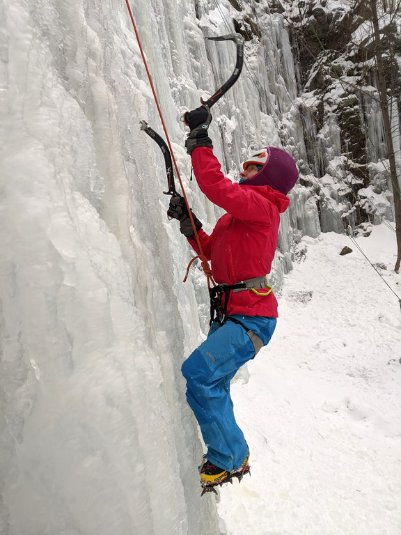
[[[273,212],[277,210],[274,203],[253,191],[253,188],[232,183],[226,178],[212,148],[195,148],[191,160],[196,181],[207,199],[236,219],[271,225]]]

